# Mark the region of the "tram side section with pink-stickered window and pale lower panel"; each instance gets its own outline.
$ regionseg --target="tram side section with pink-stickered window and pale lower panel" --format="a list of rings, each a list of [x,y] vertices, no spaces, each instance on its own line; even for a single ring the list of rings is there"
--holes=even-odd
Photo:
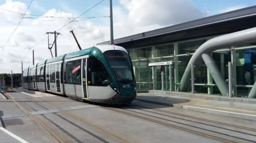
[[[82,59],[68,59],[64,62],[64,90],[67,96],[82,98],[81,82]]]

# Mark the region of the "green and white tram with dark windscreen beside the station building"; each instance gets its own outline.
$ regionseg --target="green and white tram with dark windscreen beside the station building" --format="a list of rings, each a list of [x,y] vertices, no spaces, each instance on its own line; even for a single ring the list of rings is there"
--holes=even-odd
[[[136,98],[132,61],[126,49],[96,45],[52,59],[23,71],[24,88],[106,104]]]

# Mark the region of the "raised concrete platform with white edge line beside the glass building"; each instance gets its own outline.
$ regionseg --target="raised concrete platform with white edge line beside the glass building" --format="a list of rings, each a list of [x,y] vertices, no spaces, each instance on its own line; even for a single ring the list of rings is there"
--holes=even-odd
[[[220,116],[227,116],[238,119],[246,119],[256,121],[256,100],[255,99],[228,99],[232,101],[221,101],[220,97],[204,98],[204,95],[197,95],[197,98],[188,96],[174,95],[150,95],[146,93],[139,93],[136,100],[154,104],[161,104],[176,108],[183,108],[198,112],[205,112],[208,114],[216,114]],[[213,100],[216,99],[216,100]],[[218,99],[218,100],[217,100]],[[240,102],[239,102],[240,101]],[[245,101],[245,102],[241,102]],[[246,103],[247,101],[247,103]]]

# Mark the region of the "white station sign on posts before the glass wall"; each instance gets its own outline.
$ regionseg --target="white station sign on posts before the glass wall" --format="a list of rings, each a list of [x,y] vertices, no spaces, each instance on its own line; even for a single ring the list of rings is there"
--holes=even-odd
[[[174,90],[174,62],[164,61],[149,63],[152,70],[153,90],[173,91]]]

